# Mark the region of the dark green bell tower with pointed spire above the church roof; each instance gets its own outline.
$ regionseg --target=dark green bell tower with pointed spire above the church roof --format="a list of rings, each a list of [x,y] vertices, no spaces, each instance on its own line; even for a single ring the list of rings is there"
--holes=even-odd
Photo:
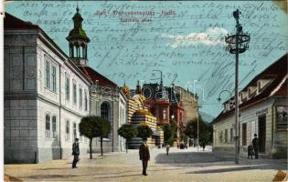
[[[70,30],[67,40],[69,41],[69,57],[76,66],[87,66],[87,45],[90,42],[85,30],[82,29],[83,18],[77,5],[76,14],[73,16],[74,28]]]

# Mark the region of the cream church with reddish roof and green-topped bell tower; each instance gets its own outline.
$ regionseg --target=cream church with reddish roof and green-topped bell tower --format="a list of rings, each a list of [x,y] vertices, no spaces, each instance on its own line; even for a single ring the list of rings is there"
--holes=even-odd
[[[118,136],[117,131],[127,122],[127,99],[120,87],[88,66],[87,50],[90,39],[82,27],[83,18],[80,15],[79,7],[76,8],[76,14],[72,20],[74,25],[66,38],[69,42],[69,58],[92,83],[90,86],[91,115],[106,118],[112,126],[111,134],[103,139],[103,151],[122,151],[124,150],[124,139]],[[100,138],[93,140],[93,151],[100,152]]]

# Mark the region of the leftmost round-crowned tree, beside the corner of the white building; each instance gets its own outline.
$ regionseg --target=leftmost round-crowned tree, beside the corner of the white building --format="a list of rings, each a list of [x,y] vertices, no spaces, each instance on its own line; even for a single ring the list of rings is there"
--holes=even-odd
[[[79,124],[81,136],[89,138],[90,159],[92,158],[92,139],[97,136],[96,116],[84,116]]]

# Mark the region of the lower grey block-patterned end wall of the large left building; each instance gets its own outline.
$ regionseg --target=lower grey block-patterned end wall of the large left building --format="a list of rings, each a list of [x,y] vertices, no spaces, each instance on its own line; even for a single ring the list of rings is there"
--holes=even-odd
[[[5,100],[5,163],[37,162],[37,103]]]

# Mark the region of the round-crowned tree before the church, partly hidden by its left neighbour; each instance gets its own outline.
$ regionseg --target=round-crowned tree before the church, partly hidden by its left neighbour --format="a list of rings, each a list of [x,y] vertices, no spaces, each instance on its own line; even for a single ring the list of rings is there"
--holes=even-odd
[[[100,144],[101,144],[101,156],[103,156],[103,137],[108,137],[111,132],[111,124],[110,122],[101,117],[95,116],[96,121],[96,137],[100,137]]]

